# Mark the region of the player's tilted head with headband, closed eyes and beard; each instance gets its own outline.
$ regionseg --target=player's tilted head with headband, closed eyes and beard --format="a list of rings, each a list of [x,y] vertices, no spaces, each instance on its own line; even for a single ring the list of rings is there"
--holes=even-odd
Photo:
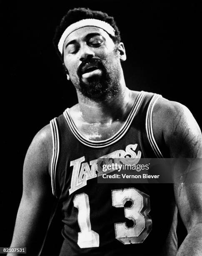
[[[54,45],[76,89],[90,98],[118,91],[125,49],[114,18],[86,8],[70,10],[62,18]]]

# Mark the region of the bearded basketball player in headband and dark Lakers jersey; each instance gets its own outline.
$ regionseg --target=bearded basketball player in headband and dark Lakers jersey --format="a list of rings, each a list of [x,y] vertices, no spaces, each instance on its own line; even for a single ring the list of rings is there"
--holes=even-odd
[[[100,157],[200,158],[201,131],[190,111],[160,95],[127,89],[125,48],[105,13],[70,10],[55,46],[78,104],[42,128],[27,151],[11,246],[39,255],[60,201],[60,256],[201,256],[202,184],[96,179]],[[179,249],[177,210],[188,232]]]

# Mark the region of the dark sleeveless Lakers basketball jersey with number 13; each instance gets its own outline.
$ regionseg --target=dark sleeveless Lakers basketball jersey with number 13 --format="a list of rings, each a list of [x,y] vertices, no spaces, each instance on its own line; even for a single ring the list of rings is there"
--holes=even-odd
[[[52,193],[62,205],[60,256],[167,255],[177,251],[172,184],[99,184],[99,158],[169,157],[158,147],[152,111],[160,95],[140,92],[124,125],[111,138],[91,141],[69,109],[51,120]]]

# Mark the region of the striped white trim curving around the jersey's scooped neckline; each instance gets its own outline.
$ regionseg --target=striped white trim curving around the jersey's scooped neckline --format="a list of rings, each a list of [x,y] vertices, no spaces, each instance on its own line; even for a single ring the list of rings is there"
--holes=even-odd
[[[127,132],[127,130],[129,129],[129,127],[132,123],[132,120],[134,119],[135,115],[137,114],[137,111],[140,108],[140,105],[141,105],[142,100],[145,97],[145,95],[146,95],[145,92],[143,92],[143,91],[140,92],[140,94],[137,96],[137,100],[135,101],[135,103],[132,107],[132,110],[131,110],[130,114],[128,115],[127,120],[125,121],[124,125],[122,125],[120,130],[117,133],[115,133],[115,135],[113,135],[111,138],[108,138],[103,141],[91,141],[91,140],[86,139],[84,136],[82,136],[80,131],[78,131],[72,118],[70,117],[68,108],[64,111],[63,115],[65,117],[65,120],[67,121],[68,126],[70,127],[70,130],[82,144],[84,144],[86,146],[90,146],[92,148],[103,148],[106,146],[110,146],[111,144],[119,141],[125,135],[125,133]]]

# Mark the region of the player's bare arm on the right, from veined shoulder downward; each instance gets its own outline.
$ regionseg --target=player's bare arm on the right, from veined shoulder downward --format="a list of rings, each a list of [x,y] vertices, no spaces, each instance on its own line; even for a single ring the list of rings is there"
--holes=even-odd
[[[192,158],[198,168],[198,182],[190,183],[185,172],[179,169],[182,182],[174,184],[178,210],[187,236],[180,246],[176,256],[202,255],[202,135],[199,126],[190,111],[177,102],[165,102],[165,126],[163,136],[170,148],[172,158]],[[165,118],[166,117],[166,118]],[[200,166],[199,164],[200,163]],[[189,169],[189,168],[188,168]],[[188,170],[189,171],[189,170]],[[178,174],[177,174],[178,175]],[[196,181],[195,181],[196,182]],[[201,182],[201,183],[200,183]]]

